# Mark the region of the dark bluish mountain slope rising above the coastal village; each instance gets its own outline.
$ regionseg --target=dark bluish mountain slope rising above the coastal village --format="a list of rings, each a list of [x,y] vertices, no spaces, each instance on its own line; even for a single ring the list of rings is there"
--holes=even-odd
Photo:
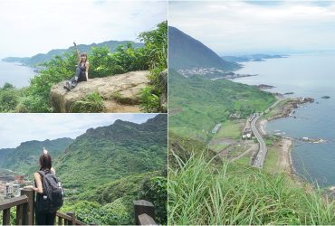
[[[168,27],[168,66],[170,69],[215,68],[233,71],[240,66],[224,61],[202,42],[197,41],[176,27]]]

